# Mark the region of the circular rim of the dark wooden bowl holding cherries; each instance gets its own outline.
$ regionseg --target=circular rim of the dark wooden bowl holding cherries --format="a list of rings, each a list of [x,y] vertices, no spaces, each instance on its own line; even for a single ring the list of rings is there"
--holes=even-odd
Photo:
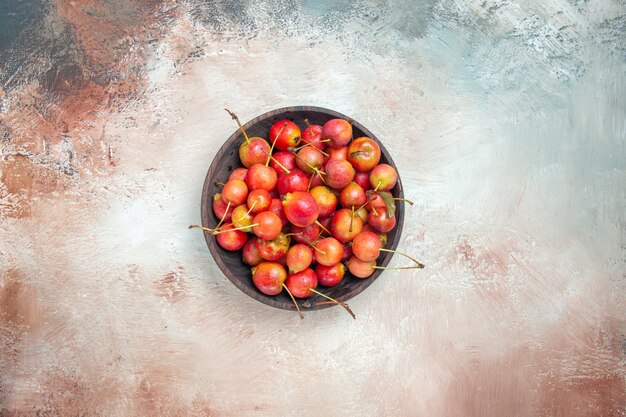
[[[380,139],[378,139],[376,135],[374,135],[369,129],[367,129],[361,123],[359,123],[358,121],[354,120],[353,118],[343,113],[340,113],[338,111],[331,110],[328,108],[324,108],[324,107],[310,106],[310,105],[281,107],[281,108],[267,111],[265,113],[262,113],[254,117],[250,121],[243,124],[243,128],[246,130],[249,130],[252,126],[254,126],[255,124],[261,121],[264,121],[271,117],[276,117],[280,114],[287,113],[287,112],[317,112],[317,113],[322,113],[323,115],[330,116],[331,118],[341,118],[341,119],[350,121],[353,124],[353,126],[355,126],[358,130],[363,132],[365,136],[372,138],[380,146],[381,155],[383,155],[384,158],[386,159],[387,161],[386,163],[394,167],[398,174],[398,181],[396,183],[396,186],[393,188],[394,194],[397,194],[398,197],[404,197],[404,189],[402,185],[401,175],[395,162],[393,161],[393,158],[389,154],[389,151],[385,148],[385,146],[380,141]],[[212,208],[212,204],[209,204],[209,202],[212,202],[212,195],[209,192],[209,190],[214,187],[214,184],[213,184],[215,181],[214,174],[217,171],[217,167],[219,163],[221,162],[223,157],[226,155],[226,153],[232,146],[232,143],[239,136],[243,136],[243,135],[241,133],[241,129],[237,128],[228,137],[228,139],[222,144],[220,149],[217,151],[217,153],[213,157],[213,160],[211,161],[209,169],[207,170],[207,174],[206,174],[204,184],[202,187],[202,201],[200,205],[200,211],[201,211],[200,217],[202,221],[202,226],[204,227],[211,227],[209,218],[211,217],[211,214],[213,213],[213,208]],[[398,244],[402,236],[403,227],[404,227],[404,207],[400,205],[399,208],[396,209],[396,227],[395,227],[396,232],[394,234],[393,241],[388,242],[386,245],[387,247],[394,248],[394,249],[398,247]],[[218,248],[217,243],[215,242],[215,237],[207,231],[204,231],[203,234],[204,234],[204,238],[207,243],[207,246],[209,248],[209,252],[211,253],[211,256],[213,257],[213,260],[215,261],[217,266],[220,268],[222,273],[226,276],[226,278],[228,278],[228,280],[231,283],[233,283],[237,288],[239,288],[239,290],[241,290],[243,293],[245,293],[249,297],[265,305],[275,307],[281,310],[295,311],[295,306],[293,305],[293,303],[291,303],[291,301],[289,303],[286,303],[286,302],[277,300],[273,296],[265,295],[256,289],[252,289],[251,287],[244,285],[242,280],[237,279],[237,277],[234,276],[232,271],[223,262],[221,262],[220,253],[218,252],[219,248]],[[393,258],[394,254],[387,252],[386,255],[387,256],[383,258],[382,262],[378,264],[378,266],[387,266],[391,262],[391,259]],[[376,279],[378,279],[378,277],[382,274],[383,271],[384,270],[378,269],[370,277],[363,279],[364,283],[362,285],[360,285],[359,287],[353,290],[350,290],[346,294],[345,297],[340,299],[340,301],[345,302],[345,301],[351,300],[352,298],[356,297],[357,295],[365,291],[370,285],[374,283],[374,281],[376,281]],[[351,278],[351,279],[359,279],[359,278],[352,276],[352,274],[350,274],[350,272],[347,270],[346,270],[346,277]],[[311,303],[309,302],[309,299],[299,300],[299,305],[303,311],[304,310],[321,310],[324,308],[330,308],[330,307],[335,306],[335,304]]]

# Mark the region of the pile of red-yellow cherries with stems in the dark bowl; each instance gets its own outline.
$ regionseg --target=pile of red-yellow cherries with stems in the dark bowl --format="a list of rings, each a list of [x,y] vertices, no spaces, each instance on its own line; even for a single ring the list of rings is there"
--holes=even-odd
[[[396,170],[380,162],[380,147],[369,137],[353,139],[352,124],[331,119],[300,128],[280,120],[269,142],[248,137],[239,147],[236,168],[213,197],[214,228],[192,225],[215,236],[228,251],[242,250],[252,281],[263,294],[286,290],[302,318],[296,298],[318,294],[354,314],[344,302],[317,290],[332,287],[346,267],[357,278],[376,269],[387,233],[396,226]],[[408,200],[404,200],[413,204]],[[394,269],[423,268],[415,266]]]

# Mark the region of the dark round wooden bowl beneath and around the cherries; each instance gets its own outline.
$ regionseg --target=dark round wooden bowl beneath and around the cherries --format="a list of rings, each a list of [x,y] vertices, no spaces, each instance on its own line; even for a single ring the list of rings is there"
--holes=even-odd
[[[228,117],[228,116],[227,116]],[[288,119],[296,123],[300,128],[304,128],[304,119],[308,119],[311,124],[323,125],[330,119],[341,118],[350,120],[346,115],[338,113],[333,110],[324,109],[321,107],[312,106],[295,106],[285,107],[282,109],[272,110],[264,113],[255,119],[249,121],[244,125],[248,136],[260,136],[267,139],[270,127],[277,121]],[[368,136],[374,139],[381,150],[380,163],[387,163],[394,168],[397,167],[391,159],[391,155],[385,149],[383,144],[363,125],[357,121],[353,121],[353,136],[354,138],[360,136]],[[222,148],[217,152],[211,167],[207,173],[204,181],[204,187],[202,189],[202,205],[201,205],[201,217],[202,225],[204,227],[212,228],[217,225],[219,219],[216,218],[213,213],[212,201],[215,193],[220,191],[221,187],[217,187],[215,181],[226,181],[230,173],[237,167],[243,166],[239,160],[239,145],[244,141],[243,134],[237,129],[224,143]],[[400,174],[398,173],[398,183],[393,188],[392,194],[395,197],[404,197],[402,191],[402,181],[400,180]],[[388,240],[386,247],[389,249],[396,249],[398,242],[400,241],[400,235],[402,233],[402,227],[404,224],[404,204],[398,204],[396,206],[396,220],[397,225],[390,233],[388,233]],[[252,273],[250,266],[243,263],[241,259],[241,251],[229,252],[222,249],[215,237],[209,232],[204,232],[204,238],[206,239],[209,251],[215,262],[220,267],[224,275],[241,291],[249,295],[250,297],[258,300],[264,304],[272,307],[281,308],[284,310],[295,310],[295,307],[289,298],[289,296],[283,291],[276,296],[268,296],[256,289],[252,283]],[[393,253],[381,252],[381,256],[377,260],[377,265],[385,266],[389,264]],[[328,296],[341,301],[348,301],[357,294],[365,291],[367,287],[372,285],[383,271],[377,269],[372,276],[366,279],[356,278],[351,275],[346,268],[346,276],[339,285],[331,288],[322,288],[321,290]],[[318,304],[320,301],[325,301],[318,295],[313,295],[306,300],[299,300],[302,310],[319,310],[322,308],[332,307],[335,304]]]

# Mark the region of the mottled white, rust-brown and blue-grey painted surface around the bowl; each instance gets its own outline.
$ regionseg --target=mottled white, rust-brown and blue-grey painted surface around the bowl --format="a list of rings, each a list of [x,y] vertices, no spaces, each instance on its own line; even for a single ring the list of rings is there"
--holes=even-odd
[[[0,13],[0,415],[625,415],[623,1]],[[257,303],[187,230],[223,108],[299,104],[372,130],[416,201],[427,268],[356,321]]]

